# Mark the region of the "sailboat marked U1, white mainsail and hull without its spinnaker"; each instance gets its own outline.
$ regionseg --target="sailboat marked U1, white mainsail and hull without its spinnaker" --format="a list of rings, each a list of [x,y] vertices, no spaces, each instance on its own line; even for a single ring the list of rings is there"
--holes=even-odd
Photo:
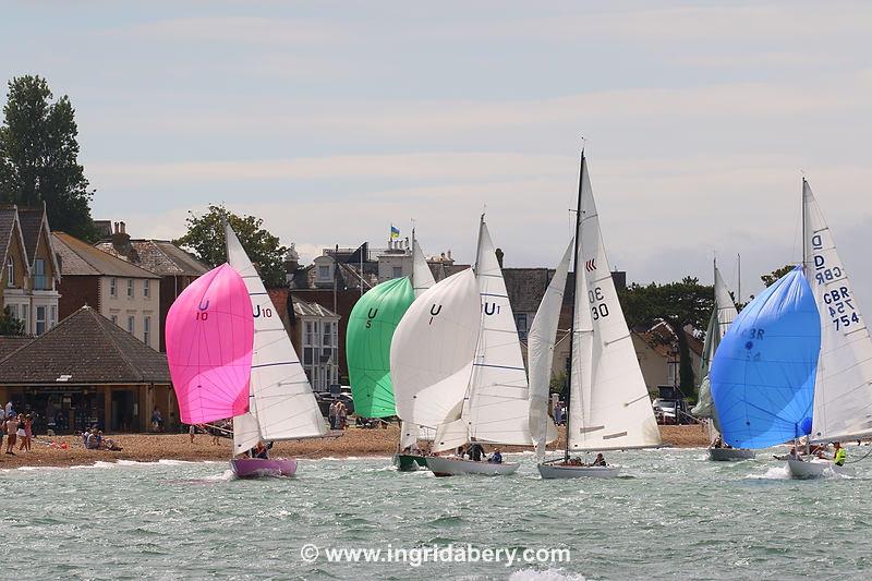
[[[475,279],[481,295],[481,332],[459,417],[438,426],[433,450],[453,450],[470,443],[530,446],[530,385],[521,342],[509,303],[502,267],[484,216],[479,223]],[[511,474],[520,464],[482,463],[457,457],[428,457],[437,476]]]

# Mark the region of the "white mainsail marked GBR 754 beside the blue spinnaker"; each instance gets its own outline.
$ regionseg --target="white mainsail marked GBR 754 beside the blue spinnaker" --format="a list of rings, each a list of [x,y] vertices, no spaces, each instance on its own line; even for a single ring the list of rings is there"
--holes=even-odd
[[[872,340],[829,228],[802,182],[806,271],[821,313],[813,441],[872,434]]]

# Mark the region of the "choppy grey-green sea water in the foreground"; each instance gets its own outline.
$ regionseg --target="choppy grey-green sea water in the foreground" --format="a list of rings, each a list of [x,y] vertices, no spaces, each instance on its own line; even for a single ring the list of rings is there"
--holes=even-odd
[[[737,463],[702,449],[614,452],[626,467],[615,480],[543,481],[532,456],[512,459],[520,470],[502,477],[399,473],[389,458],[301,460],[293,479],[249,481],[222,462],[0,471],[3,577],[872,577],[872,458],[856,477],[818,481],[789,480],[763,452]],[[301,554],[308,545],[317,555]],[[431,547],[441,560],[422,559]],[[488,548],[531,558],[473,559]],[[331,562],[328,549],[382,553]],[[540,549],[569,560],[536,560]]]

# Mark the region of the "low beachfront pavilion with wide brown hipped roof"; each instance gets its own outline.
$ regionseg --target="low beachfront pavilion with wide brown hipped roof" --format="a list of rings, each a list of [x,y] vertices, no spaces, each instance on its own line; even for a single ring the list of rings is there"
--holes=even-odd
[[[146,432],[156,407],[164,429],[179,417],[166,354],[88,306],[38,337],[0,337],[0,401],[33,413],[37,434]]]

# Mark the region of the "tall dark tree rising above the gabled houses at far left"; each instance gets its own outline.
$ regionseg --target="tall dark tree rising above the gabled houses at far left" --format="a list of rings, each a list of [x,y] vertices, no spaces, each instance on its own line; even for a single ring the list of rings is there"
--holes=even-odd
[[[56,102],[45,78],[13,77],[0,125],[0,199],[38,207],[46,204],[51,228],[94,241],[85,170],[78,164],[78,128],[70,98]]]

